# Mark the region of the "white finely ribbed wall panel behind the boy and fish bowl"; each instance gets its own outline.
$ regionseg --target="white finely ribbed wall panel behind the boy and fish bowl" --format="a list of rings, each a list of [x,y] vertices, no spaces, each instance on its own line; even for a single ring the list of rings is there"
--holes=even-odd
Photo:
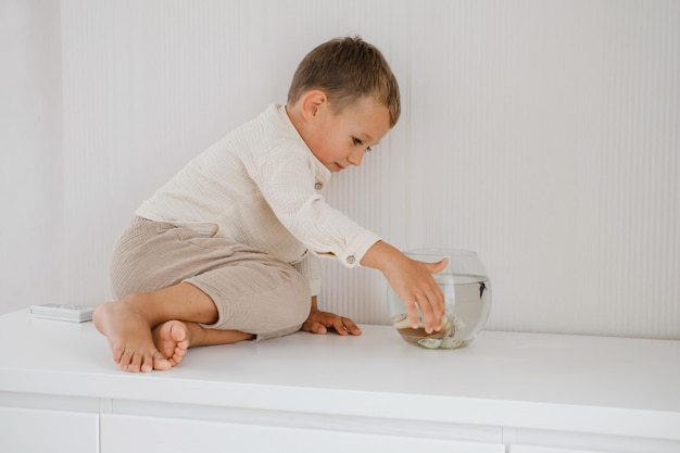
[[[68,300],[106,300],[136,206],[284,102],[311,48],[360,34],[391,62],[404,114],[331,203],[400,248],[477,250],[489,328],[680,338],[680,2],[61,7]],[[386,323],[385,298],[376,272],[327,263],[322,305]]]

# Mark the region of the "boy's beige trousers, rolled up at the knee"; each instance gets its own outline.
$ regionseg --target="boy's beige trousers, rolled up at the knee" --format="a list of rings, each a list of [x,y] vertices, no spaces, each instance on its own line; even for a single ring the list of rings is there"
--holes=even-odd
[[[257,340],[300,329],[310,314],[307,280],[288,263],[251,247],[189,228],[136,217],[118,240],[111,285],[122,299],[189,282],[215,303],[207,328],[234,329]]]

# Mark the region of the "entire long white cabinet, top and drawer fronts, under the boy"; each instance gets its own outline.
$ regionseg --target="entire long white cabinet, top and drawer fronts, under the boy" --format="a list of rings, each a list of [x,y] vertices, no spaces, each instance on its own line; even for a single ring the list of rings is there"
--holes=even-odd
[[[679,453],[680,341],[391,326],[197,348],[130,374],[91,323],[0,316],[0,453]]]

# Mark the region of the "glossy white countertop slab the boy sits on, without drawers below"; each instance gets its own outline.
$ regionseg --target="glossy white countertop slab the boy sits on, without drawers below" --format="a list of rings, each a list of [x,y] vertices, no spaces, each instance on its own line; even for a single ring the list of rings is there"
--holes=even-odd
[[[198,348],[129,374],[92,323],[0,316],[0,392],[680,440],[680,341],[482,331],[425,350],[389,326]]]

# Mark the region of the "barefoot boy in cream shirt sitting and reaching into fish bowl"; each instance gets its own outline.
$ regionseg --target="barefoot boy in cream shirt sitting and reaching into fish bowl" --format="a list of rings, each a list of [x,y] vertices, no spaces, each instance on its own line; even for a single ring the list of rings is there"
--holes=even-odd
[[[421,263],[331,209],[331,172],[358,166],[396,123],[399,86],[378,49],[333,39],[300,63],[286,106],[194,158],[137,210],[112,257],[118,301],[95,325],[124,370],[168,369],[187,350],[297,330],[361,335],[316,305],[318,256],[380,269],[428,332],[444,302]]]

